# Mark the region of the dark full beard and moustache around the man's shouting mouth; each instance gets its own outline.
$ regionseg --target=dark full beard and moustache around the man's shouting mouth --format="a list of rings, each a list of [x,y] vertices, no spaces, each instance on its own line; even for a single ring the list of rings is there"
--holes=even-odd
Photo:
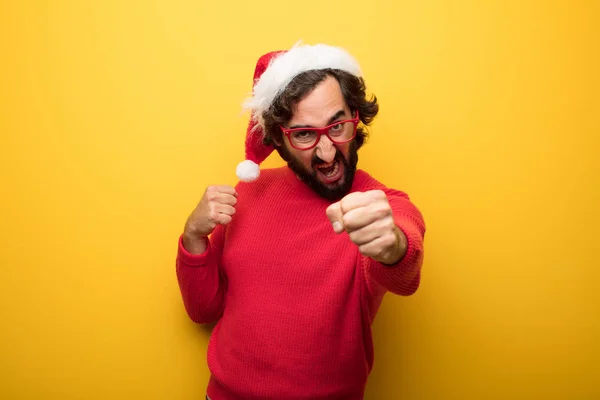
[[[344,175],[332,184],[325,184],[317,178],[317,165],[323,164],[325,161],[320,159],[316,153],[311,160],[312,171],[308,171],[300,160],[294,157],[285,146],[280,146],[277,150],[281,158],[287,161],[288,167],[296,173],[298,178],[319,196],[330,201],[338,201],[350,192],[352,183],[354,182],[356,165],[358,164],[358,149],[355,141],[352,141],[350,144],[348,159],[344,157],[341,151],[336,149],[334,160],[343,164]]]

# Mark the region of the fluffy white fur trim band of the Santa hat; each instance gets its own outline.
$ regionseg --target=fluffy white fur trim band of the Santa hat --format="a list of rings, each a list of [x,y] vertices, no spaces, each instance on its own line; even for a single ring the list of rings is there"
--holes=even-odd
[[[252,111],[252,118],[262,124],[262,114],[273,100],[285,90],[294,77],[315,69],[339,69],[361,77],[358,62],[340,47],[325,44],[296,45],[276,57],[254,85],[252,97],[244,102],[244,109]]]

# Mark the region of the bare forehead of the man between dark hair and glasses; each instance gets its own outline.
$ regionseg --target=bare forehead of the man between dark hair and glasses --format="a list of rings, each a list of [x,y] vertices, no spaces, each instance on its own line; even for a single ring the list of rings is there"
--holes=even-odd
[[[293,108],[290,125],[325,125],[332,115],[344,110],[349,113],[337,79],[328,76]]]

